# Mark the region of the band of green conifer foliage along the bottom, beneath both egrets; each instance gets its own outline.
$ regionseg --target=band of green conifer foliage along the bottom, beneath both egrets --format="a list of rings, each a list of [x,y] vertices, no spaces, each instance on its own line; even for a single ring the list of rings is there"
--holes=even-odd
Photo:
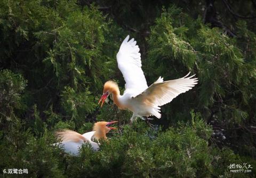
[[[212,177],[229,175],[227,166],[241,161],[227,148],[209,147],[212,128],[199,116],[193,125],[182,123],[166,131],[141,122],[123,125],[122,134],[101,142],[100,151],[85,144],[78,157],[51,145],[55,140],[46,129],[36,138],[29,131],[17,135],[22,127],[20,122],[13,125],[4,142],[9,147],[1,145],[5,154],[0,167],[25,167],[30,176]]]

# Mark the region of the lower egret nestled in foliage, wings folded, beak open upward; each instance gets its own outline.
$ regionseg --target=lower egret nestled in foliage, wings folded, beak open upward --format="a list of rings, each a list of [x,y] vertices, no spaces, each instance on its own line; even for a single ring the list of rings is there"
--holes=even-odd
[[[97,122],[93,126],[93,131],[86,132],[83,135],[70,130],[57,131],[55,132],[55,136],[57,136],[61,142],[59,144],[55,143],[54,145],[58,144],[65,152],[78,155],[82,144],[88,142],[92,145],[93,150],[97,151],[99,149],[99,143],[93,140],[107,139],[106,134],[110,130],[116,129],[115,127],[110,127],[110,125],[114,123],[117,123],[117,121]]]

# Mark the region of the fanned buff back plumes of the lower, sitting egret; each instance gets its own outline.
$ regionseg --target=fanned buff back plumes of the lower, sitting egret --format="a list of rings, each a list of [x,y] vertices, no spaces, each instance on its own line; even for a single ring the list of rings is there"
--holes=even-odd
[[[70,130],[59,130],[55,132],[55,136],[61,140],[62,142],[66,141],[73,141],[73,142],[80,142],[80,141],[87,141],[85,137],[75,131]]]

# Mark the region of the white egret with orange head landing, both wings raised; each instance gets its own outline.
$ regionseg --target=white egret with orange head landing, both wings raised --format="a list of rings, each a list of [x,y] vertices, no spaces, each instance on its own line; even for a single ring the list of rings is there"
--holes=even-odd
[[[141,69],[140,49],[136,41],[129,35],[124,39],[116,55],[118,68],[125,80],[125,91],[120,95],[118,85],[113,81],[105,83],[103,95],[99,103],[101,107],[110,94],[119,109],[129,109],[133,112],[131,122],[135,117],[147,119],[149,116],[161,118],[160,107],[171,102],[176,96],[185,93],[197,84],[197,78],[189,76],[190,72],[182,78],[163,80],[159,77],[155,83],[148,87],[146,78]]]

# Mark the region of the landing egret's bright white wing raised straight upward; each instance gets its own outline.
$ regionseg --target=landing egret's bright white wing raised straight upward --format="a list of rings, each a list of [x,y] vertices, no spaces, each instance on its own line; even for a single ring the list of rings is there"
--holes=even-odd
[[[148,88],[146,78],[141,69],[140,48],[136,41],[129,35],[124,39],[116,55],[118,68],[121,70],[124,80],[125,89],[131,90],[134,96],[140,94]]]

